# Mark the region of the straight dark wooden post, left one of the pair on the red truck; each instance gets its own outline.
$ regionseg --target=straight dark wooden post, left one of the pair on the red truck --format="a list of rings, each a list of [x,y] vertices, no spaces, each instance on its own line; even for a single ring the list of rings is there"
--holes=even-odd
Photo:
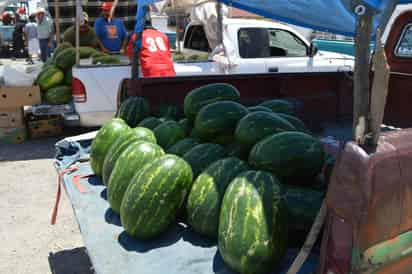
[[[366,131],[369,129],[369,60],[372,30],[372,15],[358,17],[355,38],[356,60],[353,94],[353,139],[364,144]]]

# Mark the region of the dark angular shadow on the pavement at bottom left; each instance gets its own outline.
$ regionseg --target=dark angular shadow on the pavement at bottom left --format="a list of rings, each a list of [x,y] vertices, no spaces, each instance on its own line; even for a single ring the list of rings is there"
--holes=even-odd
[[[53,274],[94,274],[85,247],[49,253],[49,265]]]

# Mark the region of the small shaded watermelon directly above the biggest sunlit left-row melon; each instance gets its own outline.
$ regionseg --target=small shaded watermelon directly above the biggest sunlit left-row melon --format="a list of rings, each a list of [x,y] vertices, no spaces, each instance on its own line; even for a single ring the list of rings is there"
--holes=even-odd
[[[185,138],[185,132],[175,121],[167,121],[158,125],[153,130],[157,143],[165,150]]]

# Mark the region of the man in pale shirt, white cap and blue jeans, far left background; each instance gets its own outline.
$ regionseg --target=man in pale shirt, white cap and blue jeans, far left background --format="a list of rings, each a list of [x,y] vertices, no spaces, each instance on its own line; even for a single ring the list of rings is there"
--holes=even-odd
[[[52,25],[45,14],[46,11],[43,8],[37,10],[37,34],[40,44],[40,58],[43,62],[46,62],[50,57],[53,38]]]

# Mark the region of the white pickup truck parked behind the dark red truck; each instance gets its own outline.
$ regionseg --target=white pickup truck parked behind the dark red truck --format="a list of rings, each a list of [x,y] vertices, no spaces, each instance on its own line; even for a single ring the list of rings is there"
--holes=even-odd
[[[214,60],[175,62],[177,77],[204,74],[287,73],[352,71],[354,58],[317,51],[293,28],[264,20],[223,20],[229,66]],[[183,53],[210,53],[201,24],[187,26]],[[117,93],[124,78],[130,78],[130,65],[73,67],[75,114],[65,115],[84,127],[100,126],[111,119],[117,108]],[[73,124],[73,123],[71,123]]]

